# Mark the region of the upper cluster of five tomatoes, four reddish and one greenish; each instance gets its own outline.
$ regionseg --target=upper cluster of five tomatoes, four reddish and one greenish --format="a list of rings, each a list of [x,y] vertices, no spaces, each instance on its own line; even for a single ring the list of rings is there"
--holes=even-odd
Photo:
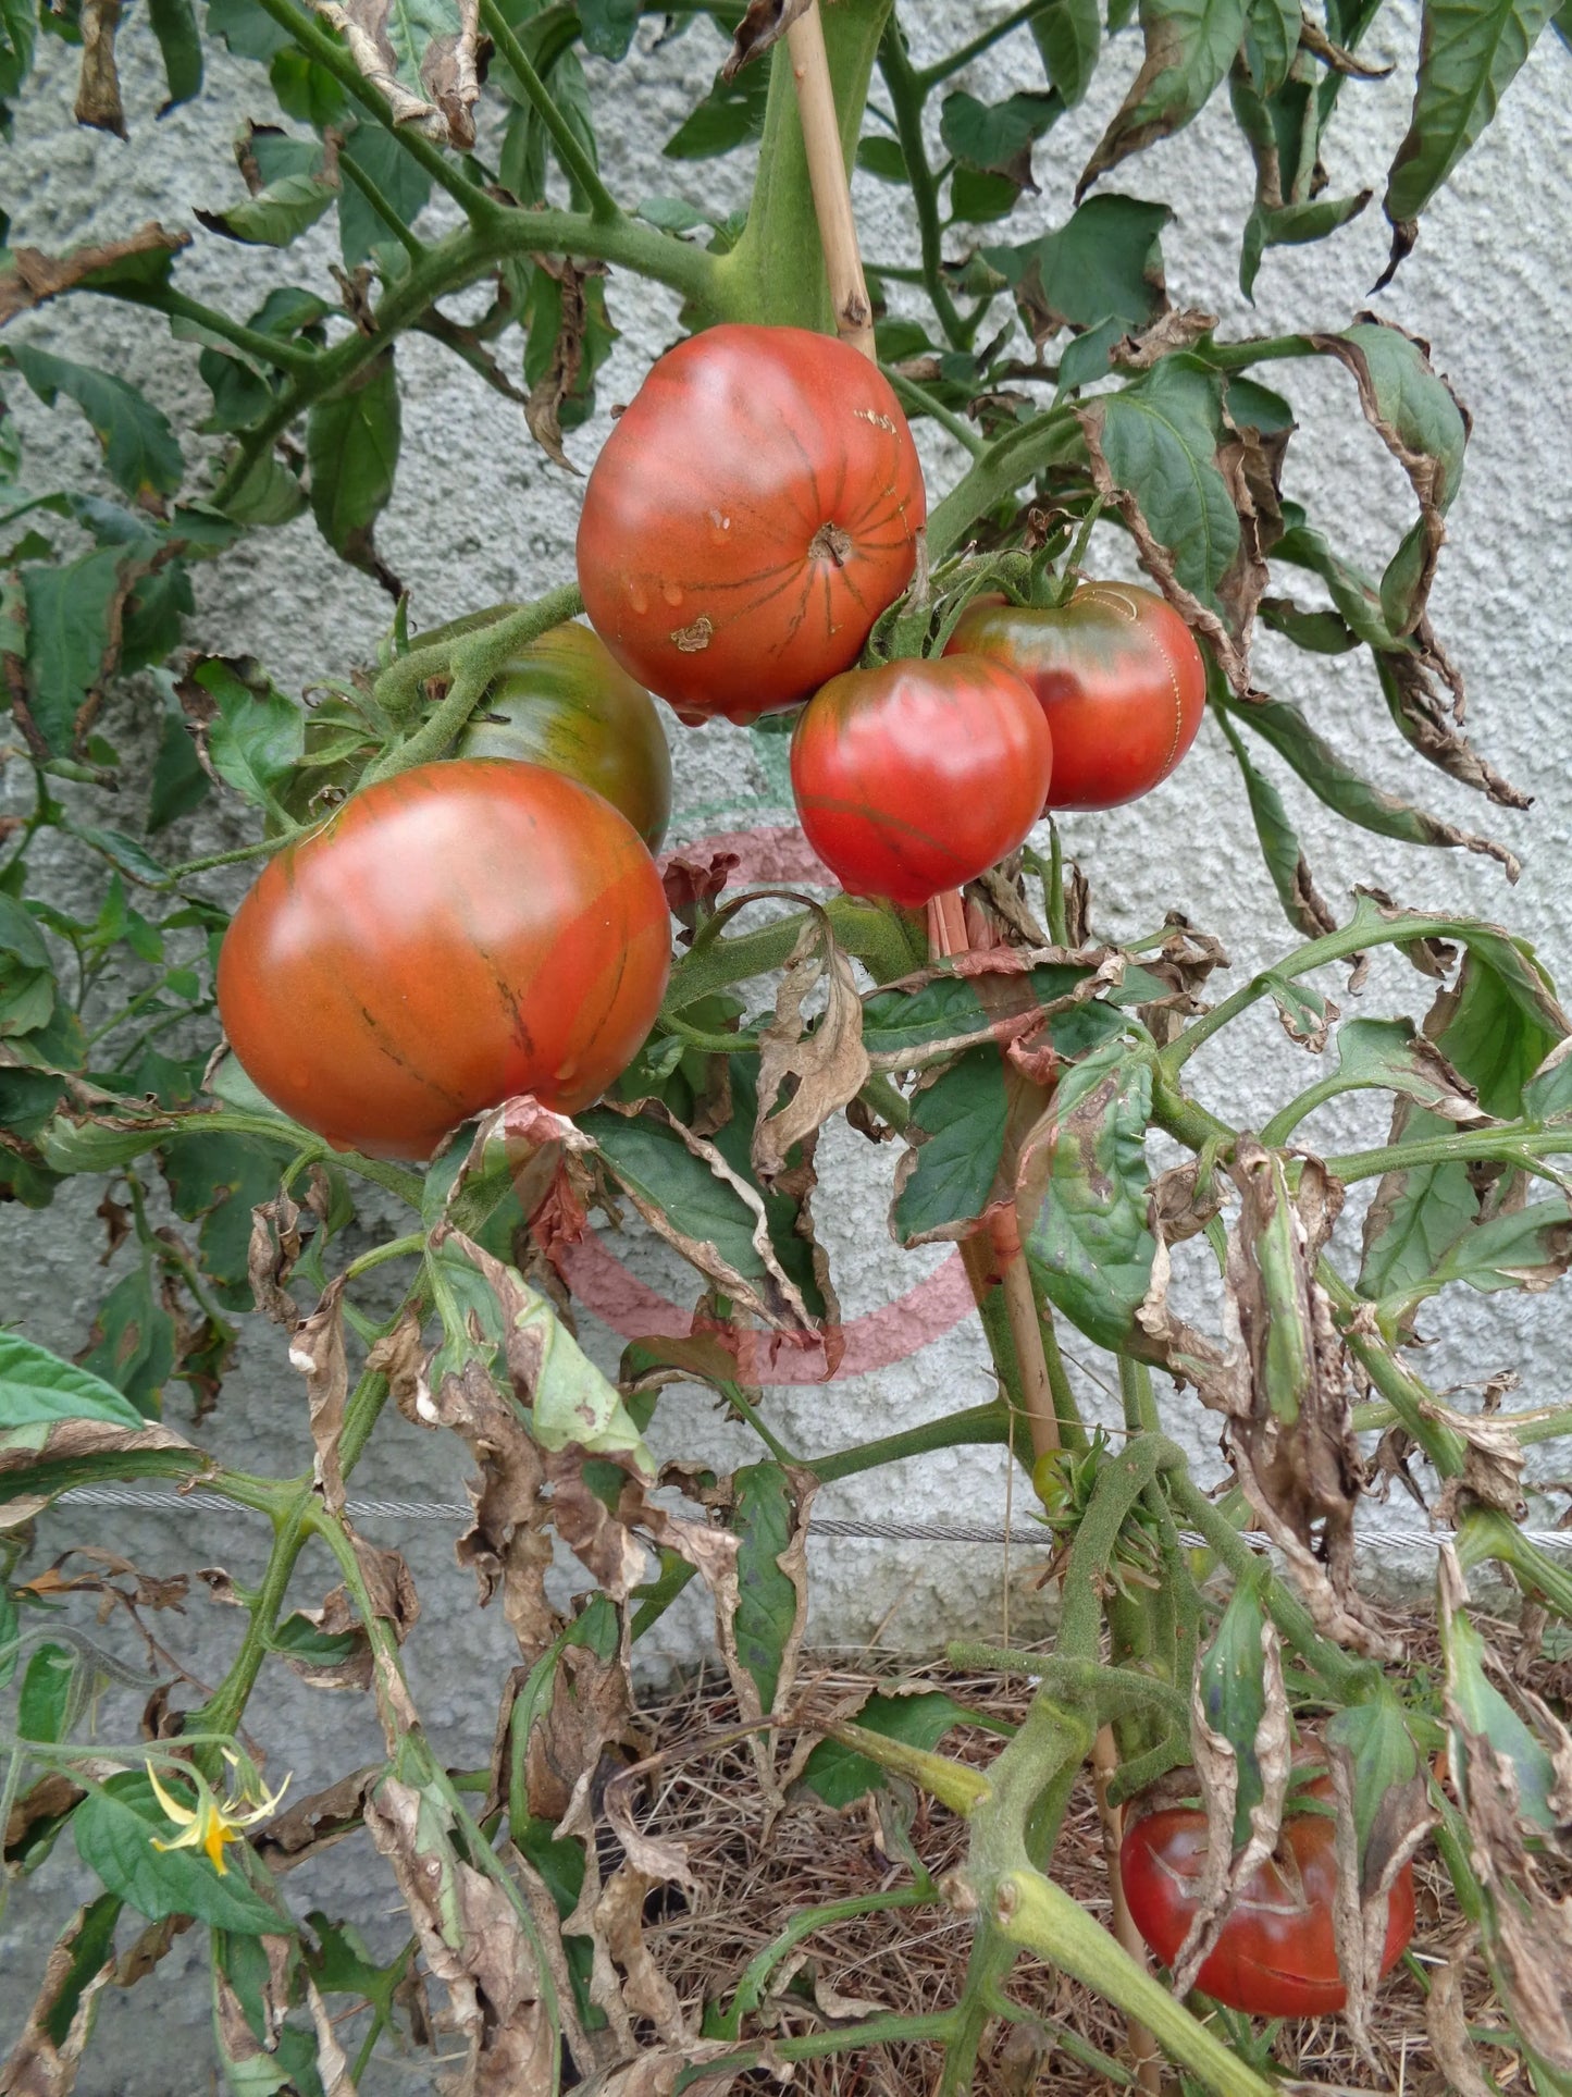
[[[941,658],[853,667],[922,524],[912,432],[847,344],[727,325],[658,359],[585,491],[593,631],[520,648],[455,759],[352,795],[241,904],[218,1004],[256,1084],[390,1158],[430,1155],[509,1093],[595,1099],[669,969],[650,851],[671,755],[650,690],[692,723],[807,700],[803,828],[847,889],[903,906],[985,872],[1050,807],[1165,778],[1205,677],[1151,591],[979,598]]]

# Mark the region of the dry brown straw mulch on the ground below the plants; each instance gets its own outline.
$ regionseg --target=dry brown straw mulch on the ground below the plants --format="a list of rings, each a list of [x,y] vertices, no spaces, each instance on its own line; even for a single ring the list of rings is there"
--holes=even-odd
[[[1515,1634],[1492,1627],[1509,1646]],[[1434,1625],[1413,1623],[1415,1650],[1434,1648]],[[1429,1657],[1429,1655],[1425,1655]],[[1536,1669],[1543,1690],[1549,1667]],[[832,1663],[805,1663],[799,1690],[815,1711],[845,1709],[859,1690],[891,1688],[893,1682],[943,1688],[958,1703],[1002,1720],[1019,1720],[1029,1701],[1021,1680],[966,1678],[945,1667],[885,1667],[880,1678]],[[832,1812],[801,1785],[790,1787],[786,1806],[773,1820],[761,1795],[752,1749],[736,1736],[736,1705],[723,1682],[700,1678],[658,1709],[646,1709],[669,1761],[654,1793],[639,1812],[648,1835],[679,1841],[700,1885],[700,1898],[685,1904],[679,1894],[652,1896],[646,1910],[646,1944],[696,2015],[704,2001],[723,2001],[748,1961],[773,1942],[799,1908],[872,1894],[910,1883],[870,1799]],[[706,1751],[704,1741],[721,1736]],[[987,1761],[1000,1738],[983,1730],[956,1730],[945,1753]],[[784,1759],[784,1757],[782,1757]],[[918,1801],[910,1841],[935,1879],[964,1860],[964,1829],[943,1808]],[[899,1845],[899,1837],[897,1837]],[[1102,1862],[1102,1833],[1090,1782],[1084,1782],[1065,1818],[1052,1862],[1054,1877],[1092,1915],[1107,1921],[1109,1887]],[[1421,1852],[1415,1866],[1419,1925],[1413,1952],[1423,1965],[1442,1965],[1463,1936],[1450,1885],[1438,1860]],[[824,2032],[882,2011],[939,2011],[956,2001],[970,1950],[970,1923],[945,1906],[859,1917],[820,1929],[776,1969],[748,2034],[778,2036]],[[1123,2022],[1084,1988],[1050,1969],[1021,1961],[1010,1980],[1010,1996],[1029,2017],[1050,2019],[1052,2045],[1046,2055],[996,2022],[979,2066],[975,2089],[987,2097],[1025,2097],[1052,2091],[1054,2097],[1109,2093],[1113,2082],[1096,2066],[1075,2057],[1079,2036],[1107,2055],[1121,2055]],[[1503,2091],[1528,2091],[1526,2066],[1511,2049],[1505,2017],[1488,1988],[1484,1967],[1471,1961],[1465,1980],[1467,2022],[1503,2030],[1503,2045],[1482,2051]],[[1283,2070],[1302,2084],[1337,2091],[1396,2091],[1402,2097],[1442,2097],[1446,2078],[1434,2063],[1425,2032],[1425,1994],[1404,1967],[1381,1988],[1373,2019],[1383,2076],[1377,2080],[1350,2045],[1341,2017],[1285,2024],[1272,2047]],[[939,2049],[920,2045],[882,2047],[864,2055],[832,2055],[796,2063],[792,2091],[803,2097],[924,2097],[939,2072]],[[1035,2059],[1035,2078],[1029,2061]],[[767,2074],[744,2076],[740,2089],[778,2089]]]

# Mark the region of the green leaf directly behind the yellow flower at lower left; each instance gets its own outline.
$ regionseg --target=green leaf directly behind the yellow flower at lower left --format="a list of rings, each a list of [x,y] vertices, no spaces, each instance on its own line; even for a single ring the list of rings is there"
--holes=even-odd
[[[193,1850],[153,1847],[153,1837],[172,1841],[176,1833],[140,1770],[111,1776],[71,1814],[71,1835],[82,1862],[99,1873],[111,1894],[130,1902],[149,1921],[195,1915],[199,1923],[233,1929],[239,1936],[285,1936],[293,1929],[283,1906],[264,1900],[241,1875],[239,1864],[231,1864],[220,1877],[208,1858]]]

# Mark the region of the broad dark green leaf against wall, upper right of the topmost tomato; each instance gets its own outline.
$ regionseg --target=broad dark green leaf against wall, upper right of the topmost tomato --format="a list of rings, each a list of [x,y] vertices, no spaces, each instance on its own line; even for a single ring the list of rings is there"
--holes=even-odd
[[[1138,197],[1092,197],[1063,226],[1025,247],[983,247],[1021,304],[1042,323],[1086,329],[1147,327],[1163,310],[1161,233],[1174,214]]]

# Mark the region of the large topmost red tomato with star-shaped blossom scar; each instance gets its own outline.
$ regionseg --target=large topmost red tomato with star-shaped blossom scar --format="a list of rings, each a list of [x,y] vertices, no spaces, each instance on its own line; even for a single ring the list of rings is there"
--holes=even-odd
[[[618,663],[690,723],[752,721],[857,661],[912,579],[922,468],[878,369],[801,327],[669,350],[606,438],[578,587]]]

